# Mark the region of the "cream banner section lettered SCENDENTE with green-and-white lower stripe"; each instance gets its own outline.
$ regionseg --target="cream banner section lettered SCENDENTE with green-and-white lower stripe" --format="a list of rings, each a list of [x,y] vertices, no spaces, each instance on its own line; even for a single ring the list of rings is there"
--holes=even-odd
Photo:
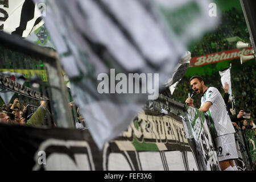
[[[113,142],[121,151],[191,151],[181,118],[144,111]]]

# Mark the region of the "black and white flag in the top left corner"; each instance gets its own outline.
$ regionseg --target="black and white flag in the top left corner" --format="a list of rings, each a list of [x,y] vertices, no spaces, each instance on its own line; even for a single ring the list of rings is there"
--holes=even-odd
[[[32,0],[0,1],[0,30],[26,38],[44,24],[41,16],[45,6],[40,7]]]

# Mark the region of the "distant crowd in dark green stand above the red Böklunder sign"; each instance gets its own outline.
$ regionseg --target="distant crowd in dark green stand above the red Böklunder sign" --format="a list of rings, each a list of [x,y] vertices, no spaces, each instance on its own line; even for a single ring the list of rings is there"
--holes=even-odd
[[[234,36],[237,36],[243,42],[250,41],[243,13],[235,8],[222,12],[220,24],[218,24],[213,32],[206,34],[203,40],[191,44],[189,51],[191,51],[192,57],[195,57],[236,49],[234,42],[238,40],[227,39],[233,38]]]

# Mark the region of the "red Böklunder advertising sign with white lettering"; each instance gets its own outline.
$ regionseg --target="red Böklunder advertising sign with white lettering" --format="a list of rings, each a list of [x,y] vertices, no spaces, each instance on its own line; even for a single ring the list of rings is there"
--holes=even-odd
[[[238,59],[238,58],[240,58],[241,54],[246,55],[246,56],[252,55],[253,48],[251,48],[251,47],[246,48],[246,49],[243,49],[242,51],[239,51],[238,49],[232,49],[229,51],[210,53],[209,55],[192,57],[190,62],[191,62],[192,67],[199,67],[202,65],[218,63],[220,61]]]

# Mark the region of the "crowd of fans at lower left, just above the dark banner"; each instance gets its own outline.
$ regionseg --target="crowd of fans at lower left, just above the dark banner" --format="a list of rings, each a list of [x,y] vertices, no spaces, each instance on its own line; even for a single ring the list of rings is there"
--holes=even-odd
[[[1,99],[0,99],[1,100]],[[21,101],[21,102],[20,102]],[[30,100],[34,105],[27,104],[24,97],[15,98],[9,105],[0,104],[0,123],[27,126],[49,126],[56,127],[52,115],[49,111],[48,101]],[[79,112],[79,107],[70,102],[69,105],[76,121],[76,128],[82,129],[85,125],[85,119]]]

